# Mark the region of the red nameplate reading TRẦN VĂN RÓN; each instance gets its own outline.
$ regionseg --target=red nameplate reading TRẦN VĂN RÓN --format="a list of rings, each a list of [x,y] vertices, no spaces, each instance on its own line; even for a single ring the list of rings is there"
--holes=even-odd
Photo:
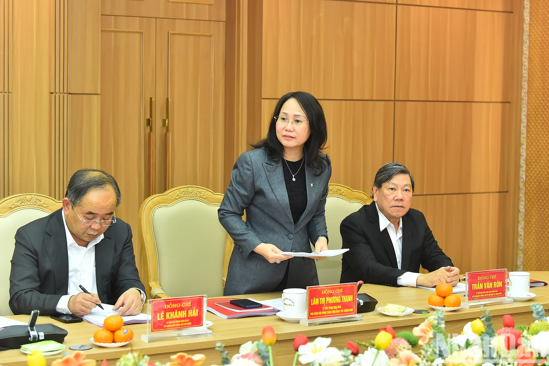
[[[486,300],[505,297],[505,269],[467,273],[467,300]]]

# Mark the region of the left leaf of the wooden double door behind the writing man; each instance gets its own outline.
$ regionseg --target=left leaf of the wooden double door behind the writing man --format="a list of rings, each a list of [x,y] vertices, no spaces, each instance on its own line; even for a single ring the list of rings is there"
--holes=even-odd
[[[119,184],[122,203],[116,216],[132,228],[141,273],[137,215],[154,185],[154,132],[149,132],[147,118],[154,97],[155,20],[102,16],[101,28],[100,167]]]

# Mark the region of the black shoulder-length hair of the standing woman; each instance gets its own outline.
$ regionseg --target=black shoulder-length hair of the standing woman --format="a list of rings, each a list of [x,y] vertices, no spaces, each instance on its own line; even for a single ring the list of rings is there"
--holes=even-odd
[[[288,99],[294,98],[305,112],[309,120],[311,135],[305,142],[304,153],[307,157],[306,164],[314,168],[317,173],[315,176],[320,176],[330,165],[330,160],[326,155],[321,155],[321,151],[325,149],[328,139],[328,128],[326,127],[326,117],[322,106],[318,103],[315,97],[307,92],[290,92],[282,95],[278,100],[275,111],[271,116],[271,123],[267,137],[257,144],[251,144],[254,149],[264,149],[272,161],[281,161],[284,156],[284,146],[276,136],[276,119],[282,110],[282,106]]]

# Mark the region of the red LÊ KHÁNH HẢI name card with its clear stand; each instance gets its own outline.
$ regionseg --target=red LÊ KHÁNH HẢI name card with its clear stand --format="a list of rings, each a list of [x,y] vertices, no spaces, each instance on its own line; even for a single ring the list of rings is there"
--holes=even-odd
[[[188,339],[207,337],[212,331],[206,328],[206,295],[170,297],[148,300],[147,333],[143,342],[177,337]]]

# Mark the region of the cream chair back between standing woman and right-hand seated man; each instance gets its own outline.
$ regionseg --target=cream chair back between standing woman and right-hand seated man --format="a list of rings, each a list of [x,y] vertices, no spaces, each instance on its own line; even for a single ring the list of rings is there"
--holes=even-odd
[[[363,205],[368,205],[372,199],[360,190],[354,190],[346,185],[328,184],[326,198],[326,226],[328,227],[329,249],[341,249],[341,221]],[[339,283],[341,277],[341,255],[329,257],[316,262],[318,283],[329,285]]]

